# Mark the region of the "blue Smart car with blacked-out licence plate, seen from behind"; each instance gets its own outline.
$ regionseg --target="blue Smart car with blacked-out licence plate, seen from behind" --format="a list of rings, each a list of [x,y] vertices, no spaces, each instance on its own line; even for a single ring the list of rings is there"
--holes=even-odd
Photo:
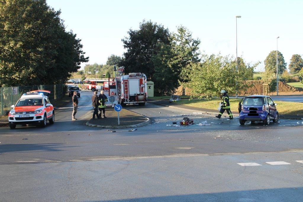
[[[279,113],[276,109],[277,103],[274,103],[269,96],[251,95],[242,98],[239,102],[239,122],[244,125],[246,121],[263,121],[269,125],[270,120],[278,121]]]

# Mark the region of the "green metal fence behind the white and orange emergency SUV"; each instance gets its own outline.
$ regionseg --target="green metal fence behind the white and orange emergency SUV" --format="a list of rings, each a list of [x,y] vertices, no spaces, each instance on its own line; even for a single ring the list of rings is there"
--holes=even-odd
[[[49,90],[50,101],[61,99],[64,96],[64,85],[17,86],[0,88],[0,116],[7,115],[11,106],[16,104],[23,93],[32,90]]]

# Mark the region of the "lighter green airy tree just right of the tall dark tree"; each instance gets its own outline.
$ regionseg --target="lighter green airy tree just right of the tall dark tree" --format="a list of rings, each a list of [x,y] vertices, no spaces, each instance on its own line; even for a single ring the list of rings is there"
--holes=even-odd
[[[181,69],[180,81],[187,82],[187,73],[191,68],[188,65],[191,63],[200,62],[199,58],[199,39],[193,39],[191,32],[184,26],[179,26],[177,33],[171,35],[172,49],[175,54],[175,63],[178,63]]]

